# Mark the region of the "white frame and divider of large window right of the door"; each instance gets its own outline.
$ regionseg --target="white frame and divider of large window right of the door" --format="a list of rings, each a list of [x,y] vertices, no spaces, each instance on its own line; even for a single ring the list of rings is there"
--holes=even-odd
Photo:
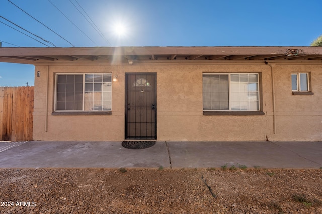
[[[231,74],[257,74],[257,84],[258,84],[258,110],[231,110],[231,89],[230,89],[230,75]],[[202,75],[228,75],[228,101],[229,101],[229,110],[203,110],[204,112],[259,112],[261,111],[261,99],[260,99],[260,82],[259,76],[260,72],[254,73],[202,73]]]

